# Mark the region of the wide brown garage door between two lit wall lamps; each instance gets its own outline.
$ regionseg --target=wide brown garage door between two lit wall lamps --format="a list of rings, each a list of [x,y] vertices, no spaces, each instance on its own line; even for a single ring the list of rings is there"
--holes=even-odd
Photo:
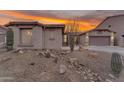
[[[90,36],[89,45],[109,46],[110,36]]]

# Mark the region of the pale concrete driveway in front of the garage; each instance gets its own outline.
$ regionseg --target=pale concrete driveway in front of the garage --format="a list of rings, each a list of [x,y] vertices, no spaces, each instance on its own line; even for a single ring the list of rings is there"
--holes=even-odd
[[[117,52],[124,56],[124,48],[117,46],[88,46],[85,49],[109,53]]]

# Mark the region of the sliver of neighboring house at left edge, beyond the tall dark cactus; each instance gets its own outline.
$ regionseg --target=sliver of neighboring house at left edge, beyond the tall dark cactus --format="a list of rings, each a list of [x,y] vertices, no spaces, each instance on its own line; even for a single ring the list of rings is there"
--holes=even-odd
[[[0,48],[5,47],[7,30],[8,28],[0,26]]]

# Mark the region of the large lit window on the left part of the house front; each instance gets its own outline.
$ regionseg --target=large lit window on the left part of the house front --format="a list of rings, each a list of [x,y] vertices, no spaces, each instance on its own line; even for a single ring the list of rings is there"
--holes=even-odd
[[[20,29],[20,43],[24,45],[32,44],[32,29]]]

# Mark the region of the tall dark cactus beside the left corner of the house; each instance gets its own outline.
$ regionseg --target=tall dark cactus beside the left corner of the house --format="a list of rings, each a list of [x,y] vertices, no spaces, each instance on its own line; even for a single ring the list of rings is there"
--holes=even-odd
[[[7,51],[10,51],[13,49],[13,42],[14,42],[14,34],[11,29],[9,29],[6,33],[6,48]]]

